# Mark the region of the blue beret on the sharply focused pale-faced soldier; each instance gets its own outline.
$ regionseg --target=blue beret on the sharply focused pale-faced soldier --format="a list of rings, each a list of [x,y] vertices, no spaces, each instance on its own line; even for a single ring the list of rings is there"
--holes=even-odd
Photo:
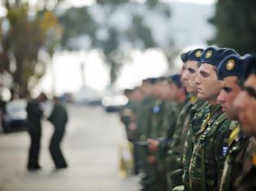
[[[217,49],[215,47],[209,47],[202,52],[201,63],[210,64],[218,67],[219,62],[221,62],[221,60],[224,57],[227,57],[228,55],[231,55],[231,54],[239,55],[238,53],[236,53],[234,49],[228,49],[228,48]]]

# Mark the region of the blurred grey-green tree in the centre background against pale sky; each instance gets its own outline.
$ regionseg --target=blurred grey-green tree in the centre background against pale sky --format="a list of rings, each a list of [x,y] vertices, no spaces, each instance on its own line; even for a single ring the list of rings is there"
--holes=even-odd
[[[71,8],[59,16],[64,28],[62,45],[64,49],[80,49],[80,43],[74,41],[80,40],[80,36],[87,37],[89,49],[100,49],[103,60],[111,66],[111,83],[115,83],[119,69],[131,59],[129,54],[133,49],[145,50],[156,47],[166,49],[170,45],[160,45],[153,35],[152,28],[155,28],[152,26],[153,23],[150,26],[150,22],[145,20],[145,14],[154,12],[168,22],[171,11],[166,4],[158,0],[149,0],[145,3],[131,0],[97,0],[96,2],[91,7]],[[120,28],[119,24],[111,22],[123,11],[128,13],[131,19],[127,28]],[[171,39],[167,41],[169,40]],[[171,52],[171,49],[168,51]],[[163,53],[167,56],[167,51]]]

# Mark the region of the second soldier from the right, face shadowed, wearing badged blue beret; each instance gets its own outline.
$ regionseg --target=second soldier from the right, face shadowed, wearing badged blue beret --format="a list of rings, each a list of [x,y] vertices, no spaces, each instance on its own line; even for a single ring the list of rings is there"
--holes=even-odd
[[[239,82],[243,66],[243,58],[238,55],[230,55],[225,57],[218,67],[219,79],[223,80],[223,89],[219,93],[218,100],[228,118],[234,121],[238,121],[238,112],[232,103],[241,91]],[[237,123],[236,128],[228,139],[228,155],[224,164],[219,190],[235,190],[232,183],[236,176],[238,176],[238,173],[241,172],[241,161],[239,158],[247,146],[248,139],[243,131],[241,131],[240,124]]]

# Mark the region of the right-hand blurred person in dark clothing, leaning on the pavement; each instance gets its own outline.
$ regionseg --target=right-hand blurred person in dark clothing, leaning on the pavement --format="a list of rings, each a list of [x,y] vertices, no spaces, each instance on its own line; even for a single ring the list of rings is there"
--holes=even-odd
[[[48,121],[54,125],[54,134],[50,140],[50,155],[57,169],[67,168],[66,160],[60,150],[60,143],[63,140],[67,124],[67,110],[57,97],[54,97],[54,108]]]

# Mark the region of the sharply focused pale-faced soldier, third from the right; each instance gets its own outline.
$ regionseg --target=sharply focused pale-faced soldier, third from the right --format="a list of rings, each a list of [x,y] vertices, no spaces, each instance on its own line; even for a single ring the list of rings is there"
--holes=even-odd
[[[201,66],[197,74],[197,97],[210,104],[207,117],[197,131],[193,155],[189,165],[190,190],[218,190],[223,162],[227,155],[228,136],[232,131],[231,121],[222,111],[217,96],[222,83],[216,74],[223,57],[237,54],[232,49],[209,47],[202,53]]]

